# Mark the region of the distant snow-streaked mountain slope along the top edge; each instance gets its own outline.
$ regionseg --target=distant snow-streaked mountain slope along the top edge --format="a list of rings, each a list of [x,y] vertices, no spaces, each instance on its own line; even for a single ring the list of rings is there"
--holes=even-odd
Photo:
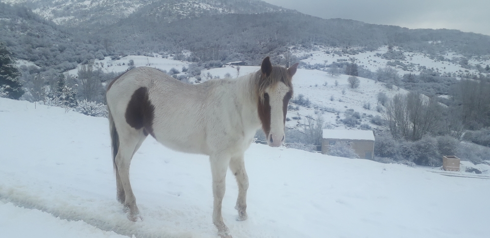
[[[141,11],[139,14],[176,19],[217,14],[287,11],[261,0],[5,0],[24,3],[46,20],[66,26],[109,25]]]

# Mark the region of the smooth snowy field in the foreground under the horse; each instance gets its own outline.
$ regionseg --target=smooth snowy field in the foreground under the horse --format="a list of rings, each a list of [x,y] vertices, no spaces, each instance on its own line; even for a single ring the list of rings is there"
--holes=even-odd
[[[108,122],[0,98],[1,238],[215,238],[208,159],[152,138],[131,182],[143,221],[116,201]],[[488,238],[490,180],[252,144],[248,220],[226,178],[234,238]]]

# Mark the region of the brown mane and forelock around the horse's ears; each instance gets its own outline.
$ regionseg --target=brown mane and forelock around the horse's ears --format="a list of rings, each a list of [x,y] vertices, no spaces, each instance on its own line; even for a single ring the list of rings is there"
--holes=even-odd
[[[255,93],[256,95],[259,95],[262,102],[264,101],[266,88],[279,82],[283,82],[291,89],[291,91],[293,91],[293,77],[289,75],[288,70],[284,67],[272,66],[272,71],[269,76],[259,70],[255,72],[253,81]]]

